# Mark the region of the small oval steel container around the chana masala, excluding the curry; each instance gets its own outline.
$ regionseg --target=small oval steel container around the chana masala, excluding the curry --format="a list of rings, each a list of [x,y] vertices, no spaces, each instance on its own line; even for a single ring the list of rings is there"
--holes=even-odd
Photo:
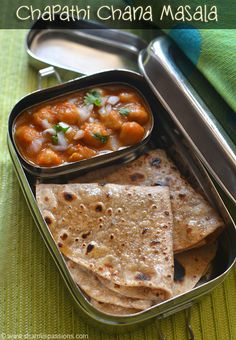
[[[102,86],[106,84],[112,84],[110,81],[111,78],[114,78],[114,83],[118,85],[128,85],[132,88],[134,88],[140,95],[141,98],[143,98],[146,107],[150,113],[150,127],[147,129],[144,138],[137,144],[133,146],[126,146],[122,147],[117,151],[111,151],[101,155],[97,155],[96,157],[92,157],[90,159],[81,160],[78,162],[73,163],[66,163],[65,165],[59,165],[59,166],[53,166],[53,167],[42,167],[38,166],[36,164],[32,164],[24,159],[24,157],[21,155],[20,151],[17,148],[17,145],[14,140],[14,131],[11,131],[11,140],[13,142],[14,148],[16,150],[16,153],[18,157],[20,158],[21,164],[23,167],[31,174],[35,176],[39,176],[40,178],[59,178],[60,176],[78,176],[80,173],[89,171],[92,169],[95,169],[99,166],[105,166],[108,164],[112,164],[114,162],[127,162],[140,155],[145,147],[145,144],[148,142],[151,136],[151,132],[153,130],[154,126],[154,117],[153,112],[155,110],[155,106],[152,102],[149,103],[150,96],[148,95],[148,91],[145,88],[139,89],[139,79],[135,79],[134,74],[132,74],[132,77],[134,78],[132,81],[129,81],[129,78],[131,76],[129,75],[128,71],[119,71],[116,72],[116,74],[113,71],[107,71],[99,74],[90,75],[87,77],[81,77],[73,82],[67,82],[63,85],[60,85],[59,88],[57,87],[54,89],[54,91],[49,95],[47,94],[47,91],[41,91],[41,96],[35,96],[32,94],[26,96],[24,99],[20,102],[20,107],[22,108],[21,111],[24,111],[26,109],[32,108],[34,106],[37,106],[37,104],[42,104],[43,102],[47,102],[47,100],[50,99],[59,99],[60,96],[70,95],[74,92],[83,90],[85,88],[90,88],[91,86]],[[147,86],[146,86],[147,87]],[[37,98],[37,99],[36,99]],[[18,103],[19,104],[19,103]],[[15,120],[20,114],[19,107],[17,105],[16,108],[12,111],[12,116],[15,117],[14,121],[11,122],[12,128],[14,129]]]

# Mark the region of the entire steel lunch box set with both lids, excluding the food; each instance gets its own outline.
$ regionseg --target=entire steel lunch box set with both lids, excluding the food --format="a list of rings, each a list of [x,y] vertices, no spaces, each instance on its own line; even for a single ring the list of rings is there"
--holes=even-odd
[[[47,25],[37,22],[27,36],[27,49],[34,66],[53,65],[57,71],[62,71],[64,74],[67,71],[70,75],[74,75],[75,72],[86,73],[86,70],[81,70],[78,65],[76,67],[72,63],[71,67],[65,66],[62,61],[65,60],[68,46],[74,46],[76,53],[84,52],[84,57],[80,54],[80,60],[83,60],[92,42],[93,52],[98,50],[98,54],[95,53],[94,63],[98,62],[97,56],[102,58],[105,53],[108,59],[110,57],[108,68],[113,70],[103,69],[102,72],[92,72],[92,74],[88,72],[90,75],[38,90],[21,99],[10,113],[8,147],[19,183],[40,234],[58,266],[78,311],[86,316],[88,321],[92,321],[93,325],[101,325],[103,330],[112,332],[126,331],[155,318],[163,318],[186,309],[221,283],[235,262],[235,225],[214,184],[216,182],[235,204],[236,156],[233,142],[180,71],[177,64],[187,65],[188,61],[165,36],[157,37],[147,46],[136,36],[122,31],[103,30],[96,25],[92,25],[90,31],[89,23],[86,25],[83,22],[77,23],[77,26],[73,24],[74,27],[70,30],[66,29],[68,27],[57,26],[57,22]],[[53,53],[57,50],[56,47],[64,48],[61,59],[58,53],[54,62],[54,54],[50,54],[50,46],[54,48]],[[57,51],[60,51],[60,48]],[[71,50],[68,52],[67,62],[75,60]],[[143,75],[130,71],[130,68],[137,69],[137,59]],[[99,62],[97,64],[98,69],[102,67],[106,69],[106,63],[103,66]],[[129,67],[130,64],[133,67]],[[118,70],[117,65],[125,69]],[[46,69],[44,73],[41,71],[41,75],[52,71],[52,68]],[[80,89],[103,84],[125,84],[141,93],[153,113],[154,127],[151,135],[148,136],[150,139],[147,138],[138,145],[127,148],[122,154],[113,152],[113,155],[108,153],[103,155],[103,158],[94,157],[92,162],[86,163],[82,170],[88,171],[108,163],[130,161],[153,146],[164,148],[183,174],[187,173],[188,178],[218,210],[226,225],[218,239],[219,246],[211,277],[187,293],[127,316],[104,314],[89,303],[73,281],[36,203],[35,184],[38,180],[46,183],[67,183],[72,177],[78,175],[81,169],[73,166],[72,163],[60,173],[35,171],[20,156],[13,139],[14,121],[22,111]],[[176,151],[177,159],[175,159]]]

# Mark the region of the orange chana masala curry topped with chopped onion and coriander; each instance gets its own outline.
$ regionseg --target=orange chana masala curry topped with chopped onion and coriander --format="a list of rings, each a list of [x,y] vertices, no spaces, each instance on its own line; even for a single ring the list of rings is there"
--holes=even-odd
[[[135,89],[100,86],[22,112],[14,139],[28,162],[53,167],[137,144],[150,121],[150,111]]]

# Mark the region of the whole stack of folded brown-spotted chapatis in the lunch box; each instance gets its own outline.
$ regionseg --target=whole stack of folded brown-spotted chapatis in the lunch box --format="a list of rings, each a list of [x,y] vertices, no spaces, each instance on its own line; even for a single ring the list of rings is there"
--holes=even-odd
[[[113,315],[191,290],[215,256],[209,239],[223,227],[163,150],[77,183],[39,184],[36,198],[75,282]]]

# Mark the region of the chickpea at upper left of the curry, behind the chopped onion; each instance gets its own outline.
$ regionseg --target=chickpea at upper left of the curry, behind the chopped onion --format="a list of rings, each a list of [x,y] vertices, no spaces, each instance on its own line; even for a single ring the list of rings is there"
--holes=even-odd
[[[55,112],[57,112],[57,119],[59,122],[76,125],[79,118],[77,107],[69,102],[60,103],[54,106]]]

